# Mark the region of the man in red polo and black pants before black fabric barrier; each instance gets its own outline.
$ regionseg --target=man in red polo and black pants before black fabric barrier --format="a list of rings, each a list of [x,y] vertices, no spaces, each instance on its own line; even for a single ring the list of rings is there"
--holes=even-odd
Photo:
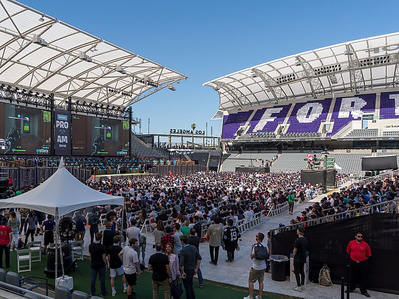
[[[367,260],[371,257],[369,244],[363,241],[363,234],[357,232],[355,240],[349,242],[346,249],[350,257],[351,266],[351,287],[350,292],[355,291],[357,285],[360,286],[360,292],[366,297],[370,297],[367,293]]]

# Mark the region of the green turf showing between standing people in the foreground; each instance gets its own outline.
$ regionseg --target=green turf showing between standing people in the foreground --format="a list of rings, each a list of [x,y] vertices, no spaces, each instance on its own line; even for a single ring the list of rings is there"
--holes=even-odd
[[[16,272],[16,253],[11,252],[10,253],[11,258],[10,258],[10,266],[11,268],[6,269],[7,271],[13,271]],[[4,258],[4,256],[3,256]],[[44,268],[47,265],[47,256],[42,256],[42,261],[41,262],[34,262],[32,263],[32,271],[31,272],[22,272],[20,275],[24,276],[29,276],[29,275],[35,275],[35,276],[41,276],[44,277]],[[3,263],[3,266],[5,264]],[[90,261],[88,259],[85,259],[83,261],[78,261],[78,269],[76,271],[71,271],[69,276],[73,277],[73,286],[74,290],[82,291],[87,294],[90,294],[90,280],[91,280],[91,274],[90,274]],[[115,290],[117,292],[115,297],[112,297],[111,295],[111,286],[110,286],[110,280],[109,280],[109,271],[106,271],[106,278],[105,278],[105,284],[107,291],[109,295],[107,295],[104,298],[127,298],[127,295],[123,293],[123,285],[122,285],[122,280],[120,278],[116,278],[115,280]],[[137,294],[138,299],[152,299],[152,284],[151,284],[151,272],[144,271],[141,276],[137,280],[137,286],[134,287],[134,291]],[[49,284],[54,285],[54,280],[49,279]],[[208,282],[205,280],[204,282],[204,288],[200,289],[198,287],[198,283],[195,280],[194,281],[194,289],[196,293],[196,298],[197,299],[242,299],[245,296],[248,296],[248,291],[244,288],[240,287],[234,287],[230,285],[225,285],[225,284],[218,284],[218,283],[213,283],[213,282]],[[101,289],[100,289],[100,279],[97,278],[97,284],[96,284],[96,296],[100,296]],[[162,291],[160,290],[160,293],[162,294]],[[257,293],[255,293],[256,295]],[[164,298],[163,295],[160,295],[159,298]],[[186,296],[183,294],[181,299],[185,299]],[[262,299],[277,299],[277,298],[288,298],[288,296],[283,296],[283,295],[273,295],[273,296],[267,296],[264,294],[262,296]]]

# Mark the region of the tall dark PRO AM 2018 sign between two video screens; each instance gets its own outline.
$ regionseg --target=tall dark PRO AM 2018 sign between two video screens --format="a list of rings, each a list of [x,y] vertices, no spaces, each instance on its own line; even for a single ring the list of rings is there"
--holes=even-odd
[[[54,148],[56,155],[71,155],[71,112],[54,110]]]

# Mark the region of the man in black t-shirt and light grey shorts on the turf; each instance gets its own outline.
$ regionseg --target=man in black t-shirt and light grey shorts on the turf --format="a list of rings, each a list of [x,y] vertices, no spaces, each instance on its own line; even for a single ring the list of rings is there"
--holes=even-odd
[[[119,258],[119,253],[122,251],[122,247],[119,246],[119,241],[121,240],[120,236],[114,237],[114,244],[110,246],[107,250],[108,253],[108,262],[109,262],[109,276],[111,278],[111,289],[112,289],[112,297],[115,297],[115,277],[119,275],[122,278],[123,283],[123,293],[128,291],[128,287],[126,286],[126,278],[123,274],[123,265],[122,261]]]

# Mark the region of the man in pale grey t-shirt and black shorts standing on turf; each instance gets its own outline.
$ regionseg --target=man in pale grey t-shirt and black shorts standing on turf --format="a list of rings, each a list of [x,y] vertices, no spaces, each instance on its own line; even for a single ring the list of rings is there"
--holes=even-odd
[[[129,246],[125,246],[119,253],[119,258],[123,262],[123,271],[128,284],[128,299],[136,298],[136,293],[133,292],[133,286],[136,286],[137,276],[140,276],[139,258],[135,250],[137,246],[137,239],[132,238],[129,240]]]

